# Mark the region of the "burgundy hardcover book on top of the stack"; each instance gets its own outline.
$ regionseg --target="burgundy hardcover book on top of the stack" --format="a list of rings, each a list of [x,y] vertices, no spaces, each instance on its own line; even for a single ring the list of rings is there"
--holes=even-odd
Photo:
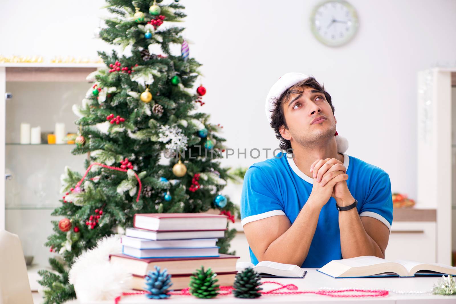
[[[225,230],[227,218],[209,213],[136,213],[133,226],[153,231]]]

